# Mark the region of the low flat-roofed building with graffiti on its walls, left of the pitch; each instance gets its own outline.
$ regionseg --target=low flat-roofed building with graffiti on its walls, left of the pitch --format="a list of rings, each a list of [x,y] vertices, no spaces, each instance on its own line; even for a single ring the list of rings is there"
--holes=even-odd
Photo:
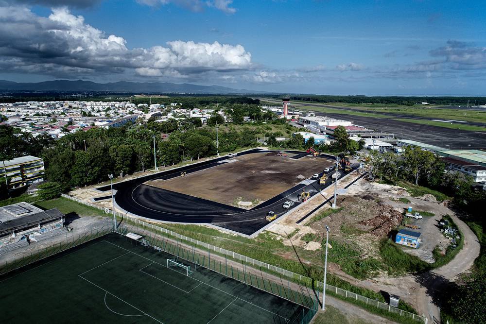
[[[37,241],[56,230],[62,230],[64,214],[57,208],[42,210],[22,202],[0,207],[0,251],[15,243]]]

